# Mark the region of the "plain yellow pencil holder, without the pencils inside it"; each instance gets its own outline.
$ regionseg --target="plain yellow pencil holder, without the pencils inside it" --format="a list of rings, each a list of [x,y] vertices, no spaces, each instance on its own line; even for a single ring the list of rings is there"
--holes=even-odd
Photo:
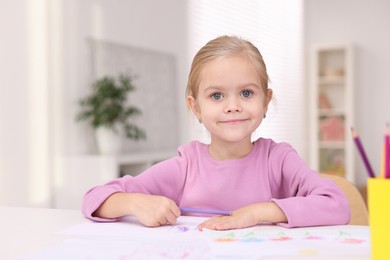
[[[368,179],[372,259],[390,259],[390,179]]]

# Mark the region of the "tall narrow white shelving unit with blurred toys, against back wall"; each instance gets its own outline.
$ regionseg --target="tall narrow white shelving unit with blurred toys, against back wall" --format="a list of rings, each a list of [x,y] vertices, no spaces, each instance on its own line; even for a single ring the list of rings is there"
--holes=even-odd
[[[315,45],[310,53],[310,164],[355,181],[354,59],[350,44]]]

